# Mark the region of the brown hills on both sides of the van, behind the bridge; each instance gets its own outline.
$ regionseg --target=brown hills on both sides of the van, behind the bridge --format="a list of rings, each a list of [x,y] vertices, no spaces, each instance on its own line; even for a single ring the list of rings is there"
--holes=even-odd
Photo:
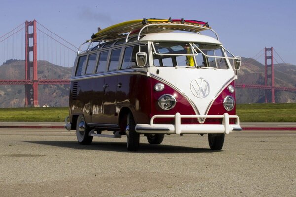
[[[9,60],[0,66],[0,79],[24,79],[25,61]],[[69,79],[72,68],[38,61],[39,79]],[[275,86],[296,88],[296,66],[289,64],[274,65]],[[264,85],[265,67],[251,58],[242,58],[238,71],[237,84]],[[69,85],[39,85],[39,105],[68,106]],[[277,103],[296,102],[296,92],[276,91]],[[259,89],[236,89],[237,103],[263,103],[265,91]],[[0,108],[23,107],[25,90],[23,85],[0,85]]]

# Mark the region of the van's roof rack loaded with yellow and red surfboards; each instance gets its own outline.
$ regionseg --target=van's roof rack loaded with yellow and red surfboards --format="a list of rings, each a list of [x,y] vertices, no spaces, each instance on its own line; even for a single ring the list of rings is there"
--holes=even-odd
[[[118,23],[102,29],[91,36],[91,40],[104,40],[111,41],[115,39],[120,39],[126,37],[126,42],[131,34],[138,33],[138,41],[140,40],[140,35],[148,33],[163,33],[172,31],[187,31],[199,33],[203,30],[210,30],[215,35],[217,40],[219,40],[218,34],[209,27],[208,22],[196,21],[196,20],[184,20],[182,19],[137,19],[131,21],[125,21]]]

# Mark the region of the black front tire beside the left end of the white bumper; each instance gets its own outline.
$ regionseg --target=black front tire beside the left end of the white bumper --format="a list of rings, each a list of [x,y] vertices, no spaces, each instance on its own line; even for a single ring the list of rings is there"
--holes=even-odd
[[[139,149],[140,135],[135,130],[136,124],[132,113],[127,116],[126,123],[126,146],[128,151],[137,151]]]

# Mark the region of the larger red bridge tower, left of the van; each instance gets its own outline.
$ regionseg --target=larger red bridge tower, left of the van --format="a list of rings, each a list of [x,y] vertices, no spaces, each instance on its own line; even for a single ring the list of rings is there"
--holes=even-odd
[[[33,20],[25,22],[25,79],[33,80],[33,84],[25,84],[25,107],[39,107],[37,73],[37,33]]]

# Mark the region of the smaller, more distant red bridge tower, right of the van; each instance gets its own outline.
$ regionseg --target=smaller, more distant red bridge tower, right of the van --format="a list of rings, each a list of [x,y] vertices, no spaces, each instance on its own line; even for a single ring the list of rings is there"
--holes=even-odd
[[[269,52],[269,53],[268,53]],[[271,87],[271,102],[275,103],[274,94],[274,66],[273,66],[273,47],[265,47],[265,86]],[[268,103],[268,95],[270,90],[265,90],[265,103]]]

